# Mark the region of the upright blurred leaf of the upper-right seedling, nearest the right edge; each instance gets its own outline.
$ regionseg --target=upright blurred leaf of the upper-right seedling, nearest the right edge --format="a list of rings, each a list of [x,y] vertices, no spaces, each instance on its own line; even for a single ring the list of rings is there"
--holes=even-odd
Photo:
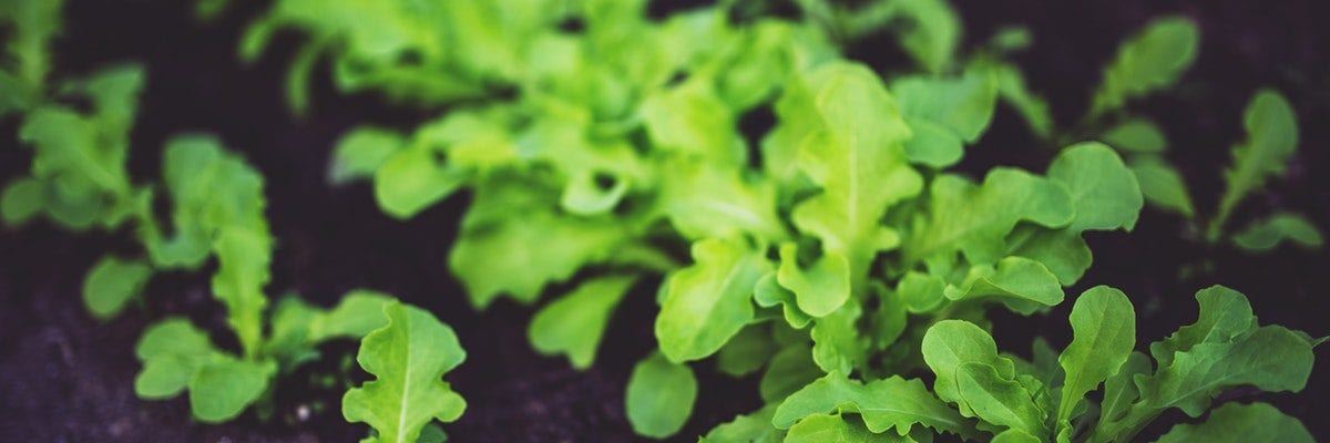
[[[1242,112],[1248,138],[1233,146],[1233,165],[1224,170],[1226,189],[1220,212],[1210,221],[1206,235],[1218,239],[1229,216],[1244,198],[1265,185],[1270,177],[1283,176],[1283,169],[1298,149],[1298,120],[1293,106],[1273,89],[1261,89]]]

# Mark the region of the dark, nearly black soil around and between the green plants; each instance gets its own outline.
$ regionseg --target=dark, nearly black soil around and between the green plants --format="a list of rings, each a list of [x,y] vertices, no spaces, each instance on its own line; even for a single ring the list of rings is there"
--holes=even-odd
[[[662,1],[662,0],[657,0]],[[282,101],[285,60],[297,36],[278,39],[255,67],[235,59],[238,35],[261,4],[234,8],[223,20],[200,24],[189,1],[72,0],[66,32],[56,44],[56,77],[85,74],[106,63],[138,60],[149,68],[148,90],[133,133],[132,170],[140,181],[158,177],[168,136],[207,130],[242,152],[266,177],[269,218],[279,243],[270,293],[295,291],[325,306],[354,287],[374,287],[434,311],[451,323],[469,353],[448,379],[469,402],[447,427],[458,442],[628,442],[637,440],[622,414],[622,390],[633,362],[653,346],[654,303],[646,282],[618,309],[597,365],[575,371],[561,358],[536,355],[525,338],[531,309],[501,302],[484,313],[464,303],[444,266],[466,197],[455,197],[408,222],[392,221],[374,205],[364,185],[330,188],[325,181],[332,141],[360,122],[410,128],[432,113],[403,110],[374,97],[335,94],[325,77],[313,112],[293,118]],[[1302,144],[1289,178],[1275,181],[1234,217],[1241,225],[1274,209],[1297,209],[1330,226],[1330,29],[1317,0],[1096,0],[956,1],[967,25],[967,47],[999,25],[1024,24],[1036,44],[1016,57],[1033,89],[1052,102],[1061,126],[1071,125],[1099,81],[1100,67],[1117,41],[1150,17],[1185,13],[1204,33],[1197,65],[1174,93],[1137,102],[1172,140],[1170,158],[1182,168],[1202,213],[1222,192],[1220,172],[1228,149],[1242,138],[1241,112],[1261,85],[1285,92],[1302,122]],[[855,57],[875,67],[900,67],[886,40],[855,47]],[[326,71],[322,71],[326,72]],[[13,134],[15,122],[0,126]],[[999,110],[986,138],[970,150],[963,170],[994,165],[1043,170],[1052,152],[1024,129],[1011,110]],[[31,152],[12,136],[0,137],[0,181],[20,174]],[[1068,290],[1107,283],[1133,297],[1140,341],[1165,337],[1196,317],[1192,294],[1224,283],[1246,293],[1264,323],[1314,335],[1330,334],[1319,278],[1330,253],[1283,249],[1248,255],[1205,246],[1180,218],[1146,210],[1134,233],[1091,234],[1096,265]],[[77,234],[35,223],[0,229],[0,440],[4,442],[354,442],[363,426],[338,412],[343,386],[309,380],[342,374],[354,343],[323,349],[325,363],[283,379],[274,419],[254,414],[217,426],[190,420],[182,399],[141,402],[133,395],[138,363],[133,346],[148,323],[190,315],[223,330],[221,306],[207,291],[207,271],[158,275],[141,307],[98,323],[82,307],[81,281],[105,251],[130,254],[126,233]],[[1184,269],[1192,270],[1182,274]],[[995,314],[998,338],[1023,351],[1035,335],[1056,346],[1069,339],[1069,303],[1047,317]],[[214,334],[223,337],[225,334]],[[1271,400],[1303,419],[1319,439],[1330,439],[1326,351],[1307,390],[1299,395],[1226,396]],[[755,378],[732,380],[700,365],[701,394],[680,440],[692,440],[734,414],[758,406]],[[303,422],[298,408],[314,411]],[[1169,414],[1161,422],[1185,419]],[[1154,430],[1160,431],[1160,430]]]

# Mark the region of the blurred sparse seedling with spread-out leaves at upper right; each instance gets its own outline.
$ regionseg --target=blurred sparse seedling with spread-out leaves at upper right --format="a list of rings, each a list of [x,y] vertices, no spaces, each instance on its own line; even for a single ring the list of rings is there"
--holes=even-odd
[[[1319,230],[1294,212],[1275,212],[1238,231],[1229,229],[1229,218],[1238,205],[1269,180],[1282,177],[1297,152],[1297,116],[1277,90],[1257,90],[1244,110],[1246,140],[1232,149],[1233,164],[1224,172],[1226,189],[1209,217],[1197,212],[1182,174],[1166,158],[1164,129],[1128,109],[1133,100],[1176,85],[1198,51],[1200,29],[1190,19],[1168,16],[1145,24],[1119,47],[1116,57],[1104,68],[1091,108],[1079,128],[1068,132],[1069,137],[1096,137],[1127,156],[1146,202],[1190,220],[1193,229],[1209,243],[1226,241],[1253,253],[1269,251],[1282,242],[1321,247]],[[1019,71],[1012,74],[1019,77]],[[1032,126],[1049,121],[1023,114]],[[1048,130],[1036,130],[1036,134],[1049,137]]]

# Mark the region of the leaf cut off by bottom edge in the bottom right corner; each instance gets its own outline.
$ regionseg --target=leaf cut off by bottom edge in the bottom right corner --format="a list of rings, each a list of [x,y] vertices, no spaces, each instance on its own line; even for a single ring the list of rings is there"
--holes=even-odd
[[[1287,442],[1311,443],[1315,438],[1298,419],[1267,403],[1225,403],[1204,423],[1177,424],[1158,443],[1185,442]]]

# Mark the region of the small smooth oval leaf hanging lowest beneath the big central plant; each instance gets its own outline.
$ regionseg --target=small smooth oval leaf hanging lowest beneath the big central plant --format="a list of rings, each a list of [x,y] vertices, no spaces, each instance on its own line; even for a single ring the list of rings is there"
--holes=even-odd
[[[633,366],[624,407],[634,432],[664,439],[684,427],[696,399],[693,370],[652,354]]]

